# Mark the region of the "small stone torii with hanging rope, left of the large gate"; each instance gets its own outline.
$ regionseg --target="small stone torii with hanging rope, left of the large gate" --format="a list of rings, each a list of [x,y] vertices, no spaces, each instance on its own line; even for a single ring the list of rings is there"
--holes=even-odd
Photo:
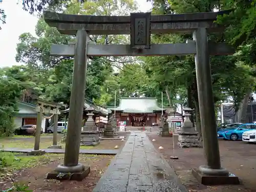
[[[58,115],[60,114],[59,108],[63,104],[46,101],[40,98],[37,98],[36,100],[37,100],[37,105],[36,105],[35,111],[37,112],[37,119],[36,119],[35,144],[34,144],[34,150],[29,152],[28,154],[44,155],[46,152],[40,149],[41,123],[42,123],[42,117],[44,117],[43,114],[52,114],[52,116],[54,116],[53,144],[50,148],[60,148],[57,145],[57,124],[58,124],[57,122],[58,122]],[[48,119],[51,117],[48,117]]]

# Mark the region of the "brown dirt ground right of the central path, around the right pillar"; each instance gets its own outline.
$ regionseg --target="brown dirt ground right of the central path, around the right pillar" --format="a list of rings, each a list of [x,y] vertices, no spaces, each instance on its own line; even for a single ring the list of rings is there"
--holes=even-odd
[[[197,182],[191,175],[191,168],[198,168],[205,164],[203,148],[179,148],[175,144],[175,156],[178,160],[171,160],[173,155],[173,138],[161,137],[156,133],[148,133],[147,136],[152,140],[154,146],[166,161],[174,168],[176,174],[190,192],[256,192],[256,144],[249,144],[243,141],[224,141],[219,140],[221,164],[230,173],[239,177],[242,181],[240,185],[205,186]],[[174,137],[177,143],[178,136]],[[159,150],[158,147],[163,149]]]

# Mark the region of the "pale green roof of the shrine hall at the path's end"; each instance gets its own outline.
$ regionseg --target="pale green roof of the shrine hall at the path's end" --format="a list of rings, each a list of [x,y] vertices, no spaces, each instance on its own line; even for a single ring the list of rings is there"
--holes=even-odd
[[[111,108],[110,110],[114,111],[115,108]],[[159,108],[156,98],[123,97],[120,99],[116,111],[122,111],[123,113],[155,113],[161,112],[162,108]]]

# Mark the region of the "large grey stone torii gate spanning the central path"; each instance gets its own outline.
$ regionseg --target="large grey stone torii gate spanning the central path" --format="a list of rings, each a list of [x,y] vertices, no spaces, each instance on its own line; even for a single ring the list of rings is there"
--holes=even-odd
[[[58,172],[80,172],[78,163],[84,85],[88,56],[163,56],[195,55],[199,108],[206,165],[199,167],[198,174],[224,176],[229,172],[221,167],[215,106],[212,93],[209,55],[233,54],[234,50],[224,43],[208,42],[208,32],[222,31],[214,21],[217,15],[228,12],[208,12],[170,15],[131,13],[131,16],[68,15],[44,12],[44,19],[61,34],[76,35],[75,44],[52,45],[51,55],[74,56],[72,91],[70,99],[69,129],[64,164]],[[220,30],[221,29],[221,30]],[[193,33],[193,40],[184,44],[151,44],[151,34]],[[131,45],[95,45],[88,35],[130,34]],[[229,183],[229,182],[228,182]]]

